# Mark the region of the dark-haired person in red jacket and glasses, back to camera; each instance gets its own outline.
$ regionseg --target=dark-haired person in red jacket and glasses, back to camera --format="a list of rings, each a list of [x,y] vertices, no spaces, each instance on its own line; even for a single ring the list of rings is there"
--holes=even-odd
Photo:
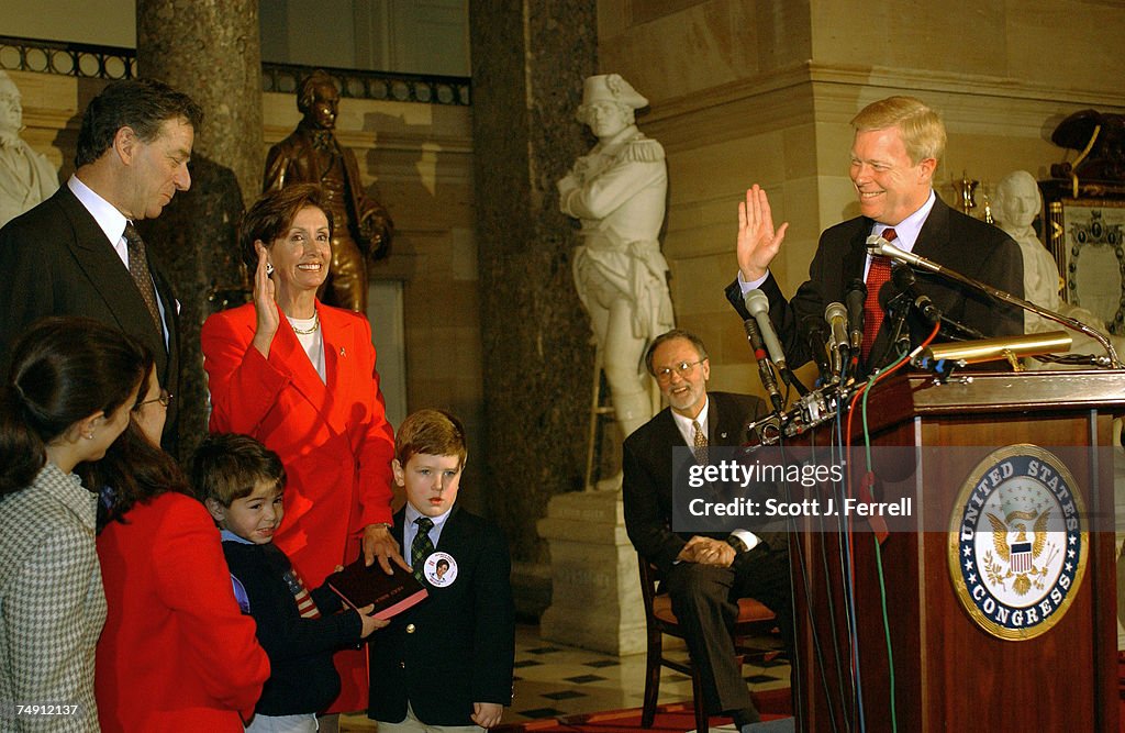
[[[160,447],[172,400],[154,369],[122,438],[90,471],[109,614],[98,642],[106,731],[242,731],[269,677],[235,601],[219,535]]]

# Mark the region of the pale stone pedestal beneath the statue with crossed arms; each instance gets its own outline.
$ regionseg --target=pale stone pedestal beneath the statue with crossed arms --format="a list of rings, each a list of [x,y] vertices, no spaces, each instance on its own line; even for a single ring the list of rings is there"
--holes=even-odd
[[[558,494],[537,527],[550,545],[552,583],[539,635],[609,654],[644,652],[637,551],[626,535],[621,492]]]

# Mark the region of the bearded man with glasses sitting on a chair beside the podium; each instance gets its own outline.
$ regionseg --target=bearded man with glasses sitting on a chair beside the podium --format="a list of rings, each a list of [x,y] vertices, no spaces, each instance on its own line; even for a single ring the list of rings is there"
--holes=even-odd
[[[730,624],[738,615],[738,599],[753,597],[777,614],[791,638],[786,538],[765,531],[737,530],[737,538],[672,531],[673,448],[738,446],[747,423],[765,408],[758,397],[709,393],[706,349],[688,331],[674,329],[657,337],[645,364],[669,406],[626,438],[626,529],[637,552],[664,574],[692,662],[703,678],[708,714],[721,712],[746,726],[742,730],[754,730],[758,713],[735,661]]]

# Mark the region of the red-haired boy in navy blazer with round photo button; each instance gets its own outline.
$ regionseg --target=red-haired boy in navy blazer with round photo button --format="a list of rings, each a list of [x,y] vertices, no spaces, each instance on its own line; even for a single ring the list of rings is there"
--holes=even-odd
[[[430,597],[371,643],[368,717],[380,733],[489,728],[512,701],[511,557],[498,527],[454,506],[466,455],[461,422],[441,410],[413,413],[395,438],[406,490],[395,531]]]

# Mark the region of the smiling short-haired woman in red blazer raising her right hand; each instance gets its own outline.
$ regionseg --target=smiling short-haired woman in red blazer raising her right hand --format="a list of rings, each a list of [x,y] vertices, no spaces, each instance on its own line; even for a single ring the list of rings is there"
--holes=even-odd
[[[332,260],[324,194],[297,185],[246,212],[241,241],[254,302],[202,328],[212,432],[242,432],[281,456],[286,520],[273,537],[308,588],[359,556],[406,562],[389,531],[394,433],[367,319],[316,300]],[[342,691],[330,712],[367,707],[363,651],[336,654]]]

